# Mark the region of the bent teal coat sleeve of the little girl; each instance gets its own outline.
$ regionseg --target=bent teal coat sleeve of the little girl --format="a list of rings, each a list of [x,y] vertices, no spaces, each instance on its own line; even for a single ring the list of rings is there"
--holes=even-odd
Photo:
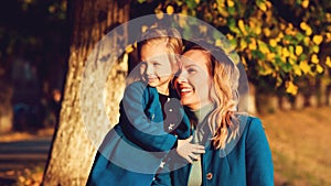
[[[145,89],[146,86],[139,83],[127,87],[120,107],[119,124],[126,138],[140,147],[154,152],[169,151],[177,144],[177,138],[164,132],[163,122],[150,121],[146,116],[145,109],[149,103],[146,100],[150,98],[145,95]]]

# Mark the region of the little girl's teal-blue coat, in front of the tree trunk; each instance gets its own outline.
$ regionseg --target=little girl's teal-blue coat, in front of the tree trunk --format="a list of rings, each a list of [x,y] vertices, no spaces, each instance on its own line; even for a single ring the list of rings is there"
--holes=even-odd
[[[174,97],[172,92],[170,97]],[[171,99],[166,108],[163,121],[157,89],[142,81],[129,85],[120,105],[119,123],[104,139],[86,185],[151,185],[177,139],[191,134],[190,121],[179,100]]]

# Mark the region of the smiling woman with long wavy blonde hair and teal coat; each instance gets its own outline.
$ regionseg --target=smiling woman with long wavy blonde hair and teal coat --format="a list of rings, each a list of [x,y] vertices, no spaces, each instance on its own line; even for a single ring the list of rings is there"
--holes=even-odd
[[[222,50],[204,43],[185,50],[175,87],[192,120],[193,142],[203,144],[205,153],[182,167],[182,162],[172,162],[179,168],[170,173],[171,185],[274,185],[260,120],[236,113],[238,78],[236,65]]]

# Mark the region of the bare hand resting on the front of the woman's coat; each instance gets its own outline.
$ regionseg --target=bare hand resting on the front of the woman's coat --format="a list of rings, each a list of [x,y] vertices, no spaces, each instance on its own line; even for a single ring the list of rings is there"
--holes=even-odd
[[[205,153],[204,146],[200,144],[192,144],[193,136],[191,135],[185,140],[178,140],[177,153],[185,158],[189,163],[193,163],[193,160],[199,160],[200,154]]]

